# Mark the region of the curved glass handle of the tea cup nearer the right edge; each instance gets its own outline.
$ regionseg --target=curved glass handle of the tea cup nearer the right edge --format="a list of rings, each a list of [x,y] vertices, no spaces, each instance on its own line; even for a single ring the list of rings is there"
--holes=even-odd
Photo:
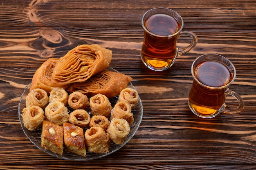
[[[238,100],[239,106],[235,107],[235,108],[231,108],[225,104],[225,107],[222,112],[227,113],[227,114],[234,114],[234,113],[239,113],[240,111],[242,111],[243,108],[245,107],[243,98],[239,94],[237,94],[236,92],[234,92],[230,89],[227,89],[226,94],[229,94],[229,95],[233,96],[234,98],[236,98],[236,100]]]

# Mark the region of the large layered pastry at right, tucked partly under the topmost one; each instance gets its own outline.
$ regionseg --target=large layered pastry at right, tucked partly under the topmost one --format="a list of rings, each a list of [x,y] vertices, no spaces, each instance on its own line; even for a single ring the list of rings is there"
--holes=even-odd
[[[132,78],[126,74],[111,71],[102,71],[83,83],[74,83],[69,88],[69,92],[79,91],[88,97],[96,94],[104,94],[108,98],[120,94],[126,88]]]

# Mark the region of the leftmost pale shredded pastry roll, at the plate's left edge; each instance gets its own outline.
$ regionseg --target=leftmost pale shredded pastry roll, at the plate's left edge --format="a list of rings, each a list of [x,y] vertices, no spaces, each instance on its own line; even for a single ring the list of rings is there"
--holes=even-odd
[[[44,111],[39,106],[25,107],[22,110],[22,119],[24,126],[29,130],[33,131],[37,129],[45,119]]]

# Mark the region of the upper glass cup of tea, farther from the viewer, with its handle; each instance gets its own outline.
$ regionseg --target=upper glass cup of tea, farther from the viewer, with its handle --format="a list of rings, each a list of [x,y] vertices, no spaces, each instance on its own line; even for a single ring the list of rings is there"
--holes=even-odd
[[[168,8],[150,9],[143,15],[141,24],[144,29],[141,60],[151,70],[170,68],[177,56],[192,50],[198,42],[193,32],[182,31],[182,17]],[[192,38],[189,46],[177,48],[180,36]]]

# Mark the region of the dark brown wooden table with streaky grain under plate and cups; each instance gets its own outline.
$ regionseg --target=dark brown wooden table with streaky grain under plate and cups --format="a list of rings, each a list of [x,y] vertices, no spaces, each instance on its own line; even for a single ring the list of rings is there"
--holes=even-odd
[[[140,59],[142,15],[174,9],[197,46],[163,72]],[[179,46],[187,39],[181,38]],[[92,161],[52,157],[25,136],[18,119],[20,95],[49,57],[77,45],[113,52],[110,67],[128,74],[143,104],[135,136],[117,152]],[[202,119],[189,109],[191,64],[201,54],[221,54],[237,71],[230,88],[245,101],[236,115]],[[236,103],[229,98],[231,103]],[[255,0],[2,0],[0,2],[0,169],[255,169]]]

